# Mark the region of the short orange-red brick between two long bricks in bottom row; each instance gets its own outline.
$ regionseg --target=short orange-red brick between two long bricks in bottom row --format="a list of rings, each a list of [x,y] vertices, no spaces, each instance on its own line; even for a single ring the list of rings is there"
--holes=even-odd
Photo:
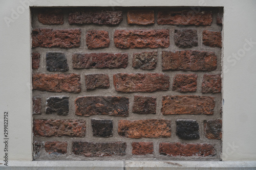
[[[146,155],[154,152],[153,142],[133,142],[132,147],[133,155]]]

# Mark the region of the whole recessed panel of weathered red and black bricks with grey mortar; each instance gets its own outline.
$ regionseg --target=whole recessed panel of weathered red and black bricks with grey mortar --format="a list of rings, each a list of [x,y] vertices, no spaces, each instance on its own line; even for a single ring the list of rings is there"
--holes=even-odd
[[[35,160],[220,160],[221,8],[32,8]]]

